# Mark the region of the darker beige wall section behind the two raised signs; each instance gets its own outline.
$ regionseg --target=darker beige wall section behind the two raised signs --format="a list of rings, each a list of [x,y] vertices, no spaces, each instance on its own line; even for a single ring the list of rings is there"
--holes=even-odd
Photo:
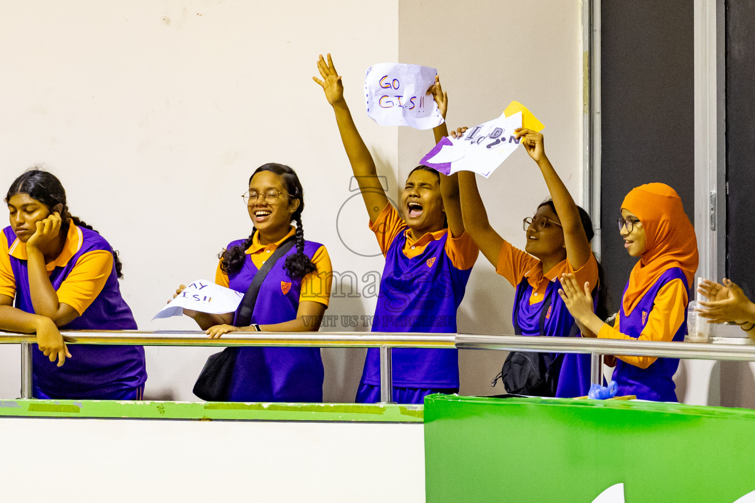
[[[501,115],[512,100],[545,129],[545,145],[576,201],[581,201],[582,50],[580,2],[434,0],[399,2],[399,60],[438,69],[448,93],[449,129]],[[429,131],[399,129],[399,179],[433,146]],[[499,234],[523,247],[522,219],[548,197],[537,165],[518,149],[478,185]],[[480,256],[458,311],[458,330],[511,334],[513,287]],[[460,351],[461,393],[504,393],[490,380],[502,351]]]

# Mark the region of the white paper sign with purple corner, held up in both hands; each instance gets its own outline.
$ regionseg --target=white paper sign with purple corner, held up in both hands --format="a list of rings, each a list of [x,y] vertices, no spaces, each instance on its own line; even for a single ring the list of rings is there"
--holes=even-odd
[[[500,117],[470,127],[458,138],[443,137],[420,164],[450,175],[457,171],[474,171],[485,178],[519,146],[514,130],[522,127],[522,112]]]

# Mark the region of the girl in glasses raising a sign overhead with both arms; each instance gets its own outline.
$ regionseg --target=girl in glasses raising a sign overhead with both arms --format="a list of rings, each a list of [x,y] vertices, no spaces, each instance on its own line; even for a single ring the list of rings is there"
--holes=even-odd
[[[461,127],[451,134],[458,136],[466,129]],[[593,224],[587,212],[575,204],[550,164],[545,155],[543,135],[529,129],[519,129],[516,130],[516,137],[521,139],[527,153],[538,164],[551,198],[538,206],[535,216],[524,219],[527,233],[525,249],[513,247],[492,228],[477,189],[475,173],[471,171],[459,172],[464,228],[482,254],[495,266],[495,271],[516,288],[512,317],[517,334],[579,336],[574,318],[558,295],[559,278],[569,272],[582,283],[599,284],[602,271],[590,248]],[[605,317],[606,305],[602,293],[597,305],[590,305],[590,312],[595,308],[600,316]],[[555,396],[586,395],[590,390],[590,355],[553,354],[550,357],[547,375],[555,381]],[[507,391],[547,393],[542,386],[533,390]]]

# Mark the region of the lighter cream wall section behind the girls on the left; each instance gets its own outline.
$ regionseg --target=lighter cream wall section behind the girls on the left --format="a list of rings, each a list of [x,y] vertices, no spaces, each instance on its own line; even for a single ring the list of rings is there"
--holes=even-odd
[[[365,142],[395,180],[396,129],[366,116],[361,92],[368,66],[397,58],[398,3],[382,5],[5,2],[0,188],[32,164],[60,176],[72,212],[120,250],[122,292],[143,330],[196,329],[185,317],[150,319],[181,282],[213,279],[217,253],[248,235],[241,195],[269,161],[299,173],[305,235],[328,247],[337,270],[360,280],[381,271],[380,257],[357,256],[338,238],[351,169],[312,75],[317,55],[331,51]],[[369,33],[354,22],[366,17]],[[374,244],[366,221],[344,212],[347,243]],[[374,299],[344,296],[328,314],[373,311]],[[194,399],[213,351],[147,348],[146,397]],[[326,399],[353,400],[363,354],[324,351]],[[17,346],[0,347],[2,397],[18,394],[18,355]]]

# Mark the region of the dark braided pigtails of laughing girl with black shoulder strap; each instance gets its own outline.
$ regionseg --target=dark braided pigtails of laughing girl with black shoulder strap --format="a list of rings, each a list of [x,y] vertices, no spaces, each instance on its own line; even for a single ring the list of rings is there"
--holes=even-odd
[[[304,254],[304,226],[301,225],[301,213],[304,211],[304,188],[301,186],[296,171],[285,164],[270,162],[263,164],[254,170],[249,177],[249,183],[254,175],[261,171],[270,171],[280,176],[285,183],[286,192],[289,198],[298,199],[299,207],[291,214],[291,220],[296,222],[296,253],[289,255],[285,259],[283,268],[288,272],[288,277],[300,281],[310,272],[316,271],[317,267],[312,263],[312,259]],[[229,274],[234,274],[241,270],[246,260],[246,250],[251,246],[256,228],[252,228],[251,235],[242,243],[223,250],[218,258],[220,259],[220,270]]]

